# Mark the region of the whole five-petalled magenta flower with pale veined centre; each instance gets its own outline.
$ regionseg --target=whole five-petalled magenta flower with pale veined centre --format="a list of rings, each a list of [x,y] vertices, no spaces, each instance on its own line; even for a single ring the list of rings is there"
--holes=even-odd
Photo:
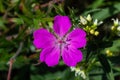
[[[68,16],[57,15],[54,18],[54,34],[46,29],[38,29],[33,33],[33,44],[42,49],[41,62],[55,66],[62,56],[66,65],[76,66],[82,60],[82,52],[78,48],[86,45],[86,33],[80,28],[68,32],[71,26]]]

